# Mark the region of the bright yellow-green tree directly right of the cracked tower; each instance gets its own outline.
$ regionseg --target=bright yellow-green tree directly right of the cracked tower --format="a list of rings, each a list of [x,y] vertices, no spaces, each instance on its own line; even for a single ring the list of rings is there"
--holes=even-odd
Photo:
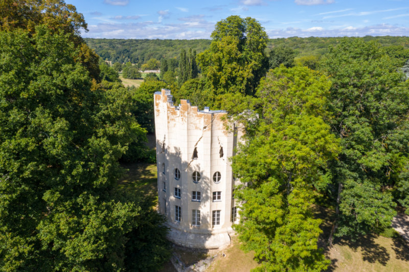
[[[324,118],[330,82],[306,67],[267,73],[257,92],[257,114],[239,114],[246,142],[233,157],[242,202],[235,226],[257,271],[321,271],[329,261],[317,248],[322,232],[311,205],[327,182],[326,167],[339,152]]]

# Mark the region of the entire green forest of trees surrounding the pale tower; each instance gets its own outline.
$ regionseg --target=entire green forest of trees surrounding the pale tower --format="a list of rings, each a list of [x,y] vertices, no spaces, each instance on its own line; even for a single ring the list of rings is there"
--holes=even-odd
[[[121,163],[155,161],[145,142],[161,88],[243,126],[234,229],[254,271],[329,267],[316,207],[334,213],[330,247],[409,214],[408,37],[271,40],[232,15],[211,40],[83,39],[73,5],[11,2],[0,2],[0,270],[169,260],[166,218],[118,185]],[[118,71],[139,78],[143,65],[160,76],[125,87]]]

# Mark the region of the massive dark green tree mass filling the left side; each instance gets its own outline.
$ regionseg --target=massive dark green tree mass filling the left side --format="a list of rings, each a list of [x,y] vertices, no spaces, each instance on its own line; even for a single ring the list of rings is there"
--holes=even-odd
[[[92,84],[78,50],[47,26],[0,33],[2,270],[122,269],[144,219],[116,189],[118,159],[144,135],[130,94]]]

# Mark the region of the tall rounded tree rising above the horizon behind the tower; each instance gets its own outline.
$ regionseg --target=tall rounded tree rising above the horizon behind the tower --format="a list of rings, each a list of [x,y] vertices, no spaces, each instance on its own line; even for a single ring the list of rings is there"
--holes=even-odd
[[[230,16],[216,23],[210,48],[197,56],[203,76],[216,94],[254,95],[265,76],[267,34],[251,18]]]

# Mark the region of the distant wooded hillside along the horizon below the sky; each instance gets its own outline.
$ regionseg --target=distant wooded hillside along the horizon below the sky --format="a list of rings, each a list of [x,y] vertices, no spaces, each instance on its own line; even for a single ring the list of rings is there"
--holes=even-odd
[[[340,37],[330,38],[279,38],[270,39],[267,51],[274,46],[288,46],[297,51],[297,56],[323,55],[329,45],[335,45]],[[395,36],[365,36],[363,39],[377,40],[382,46],[401,45],[409,49],[409,37]],[[112,62],[138,63],[141,66],[151,58],[162,60],[163,58],[178,58],[180,50],[192,48],[197,53],[206,50],[211,40],[136,40],[136,39],[91,39],[85,38],[89,47],[93,48],[104,60]]]

